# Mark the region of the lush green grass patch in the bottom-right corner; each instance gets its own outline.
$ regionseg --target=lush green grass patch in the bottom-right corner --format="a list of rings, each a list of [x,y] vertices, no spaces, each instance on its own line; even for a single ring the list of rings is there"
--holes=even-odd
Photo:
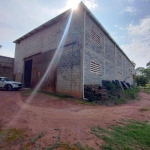
[[[150,149],[150,125],[147,122],[122,120],[119,125],[110,126],[109,129],[96,126],[91,131],[106,142],[102,150]]]

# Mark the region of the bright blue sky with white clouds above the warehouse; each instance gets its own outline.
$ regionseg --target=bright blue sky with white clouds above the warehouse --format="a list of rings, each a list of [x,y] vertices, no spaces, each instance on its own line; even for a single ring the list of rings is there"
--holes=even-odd
[[[14,57],[14,40],[79,0],[0,0],[0,55]],[[150,0],[82,0],[136,63],[150,61]],[[76,10],[77,11],[77,10]]]

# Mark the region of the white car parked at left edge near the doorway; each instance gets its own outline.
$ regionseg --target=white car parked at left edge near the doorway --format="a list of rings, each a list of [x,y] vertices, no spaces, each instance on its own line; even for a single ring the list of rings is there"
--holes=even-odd
[[[21,82],[12,81],[7,77],[0,77],[0,88],[5,88],[7,91],[18,90],[22,88]]]

